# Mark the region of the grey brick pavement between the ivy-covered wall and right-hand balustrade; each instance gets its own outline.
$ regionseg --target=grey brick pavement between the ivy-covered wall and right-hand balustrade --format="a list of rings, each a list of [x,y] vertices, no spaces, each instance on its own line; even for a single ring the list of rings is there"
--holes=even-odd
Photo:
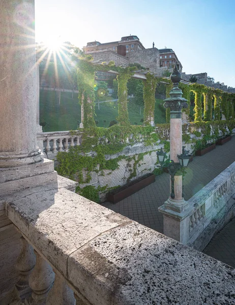
[[[184,177],[184,198],[188,200],[213,178],[235,161],[235,136],[231,141],[210,153],[194,157]],[[104,202],[103,205],[120,213],[140,224],[163,233],[163,217],[158,211],[169,196],[169,174],[163,173],[156,177],[150,186],[112,204]]]

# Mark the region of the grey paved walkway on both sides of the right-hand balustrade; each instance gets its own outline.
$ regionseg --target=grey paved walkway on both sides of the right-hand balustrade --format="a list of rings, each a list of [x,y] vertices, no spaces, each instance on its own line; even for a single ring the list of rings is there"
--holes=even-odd
[[[194,157],[184,177],[184,198],[190,199],[213,178],[235,161],[235,136],[222,146],[216,146],[207,155]],[[140,224],[163,233],[163,217],[158,211],[169,196],[169,174],[156,177],[150,186],[138,191],[126,199],[104,206],[118,212]],[[235,268],[235,218],[217,233],[203,251]]]

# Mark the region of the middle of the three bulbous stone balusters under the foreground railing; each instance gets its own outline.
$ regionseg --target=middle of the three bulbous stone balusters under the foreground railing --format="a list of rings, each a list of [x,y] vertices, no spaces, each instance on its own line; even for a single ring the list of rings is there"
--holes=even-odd
[[[30,303],[40,303],[47,297],[49,290],[54,282],[54,272],[51,266],[37,253],[36,254],[36,265],[30,274],[28,280],[31,289],[33,290]],[[32,300],[33,299],[33,300]]]

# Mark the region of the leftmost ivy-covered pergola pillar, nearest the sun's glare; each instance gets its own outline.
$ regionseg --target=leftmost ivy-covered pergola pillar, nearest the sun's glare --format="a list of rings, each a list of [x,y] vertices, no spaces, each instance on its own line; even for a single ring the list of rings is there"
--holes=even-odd
[[[83,106],[84,128],[96,127],[95,114],[95,66],[87,59],[80,60],[77,70],[78,99]]]

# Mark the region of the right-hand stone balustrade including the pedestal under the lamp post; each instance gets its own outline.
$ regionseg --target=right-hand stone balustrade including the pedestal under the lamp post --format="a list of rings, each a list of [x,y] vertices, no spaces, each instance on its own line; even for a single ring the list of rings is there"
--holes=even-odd
[[[234,193],[235,162],[190,198],[183,212],[161,206],[159,210],[164,216],[164,233],[202,251],[234,216]],[[178,233],[172,227],[172,222],[178,224]]]

